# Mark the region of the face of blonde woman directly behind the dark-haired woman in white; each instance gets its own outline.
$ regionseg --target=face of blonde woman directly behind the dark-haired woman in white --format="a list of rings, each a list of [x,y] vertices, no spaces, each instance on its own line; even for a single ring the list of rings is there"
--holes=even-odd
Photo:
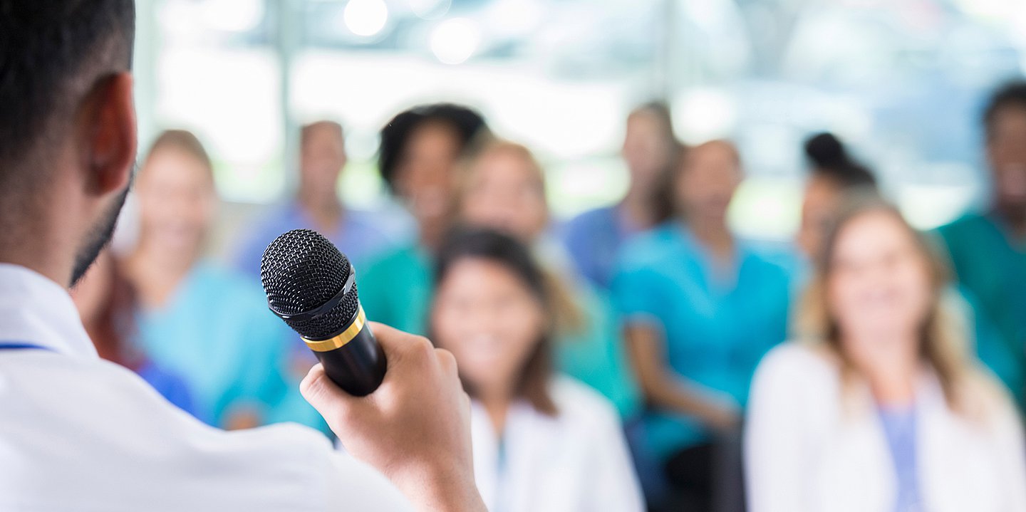
[[[484,155],[467,176],[462,216],[531,243],[545,230],[549,210],[543,184],[522,156],[500,151]]]

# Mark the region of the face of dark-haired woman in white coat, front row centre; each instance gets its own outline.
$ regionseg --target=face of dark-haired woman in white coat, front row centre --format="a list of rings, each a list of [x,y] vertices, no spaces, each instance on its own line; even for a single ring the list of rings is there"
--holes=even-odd
[[[509,394],[545,329],[529,289],[501,264],[468,258],[448,270],[435,293],[435,342],[452,352],[479,392]]]

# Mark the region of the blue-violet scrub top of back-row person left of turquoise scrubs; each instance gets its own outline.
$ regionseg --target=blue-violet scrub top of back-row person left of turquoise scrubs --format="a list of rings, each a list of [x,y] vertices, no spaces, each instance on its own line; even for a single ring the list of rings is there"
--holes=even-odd
[[[640,230],[623,219],[617,206],[585,211],[563,225],[561,235],[578,271],[592,285],[608,289],[624,242]]]

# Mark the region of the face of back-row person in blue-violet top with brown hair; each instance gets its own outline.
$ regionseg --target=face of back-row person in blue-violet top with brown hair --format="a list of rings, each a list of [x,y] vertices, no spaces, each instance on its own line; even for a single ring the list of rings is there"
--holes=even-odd
[[[673,157],[672,142],[666,139],[663,121],[649,112],[641,111],[627,118],[627,133],[621,155],[627,162],[631,181],[644,190],[659,184]]]

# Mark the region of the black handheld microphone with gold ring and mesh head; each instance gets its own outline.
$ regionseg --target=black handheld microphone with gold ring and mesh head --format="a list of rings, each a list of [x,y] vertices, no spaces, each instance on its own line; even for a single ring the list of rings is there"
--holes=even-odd
[[[356,271],[316,231],[275,238],[260,264],[271,311],[295,330],[324,372],[354,396],[372,393],[385,379],[385,353],[366,325],[356,297]]]

